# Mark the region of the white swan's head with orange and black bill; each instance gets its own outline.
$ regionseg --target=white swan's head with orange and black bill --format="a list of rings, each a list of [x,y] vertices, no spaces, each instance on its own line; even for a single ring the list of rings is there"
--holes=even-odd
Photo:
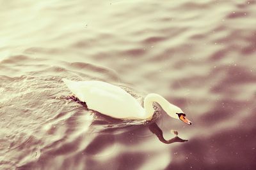
[[[172,104],[170,106],[170,111],[168,111],[168,115],[170,115],[170,117],[182,120],[182,122],[185,122],[188,125],[192,124],[192,122],[186,118],[186,114],[179,107]]]

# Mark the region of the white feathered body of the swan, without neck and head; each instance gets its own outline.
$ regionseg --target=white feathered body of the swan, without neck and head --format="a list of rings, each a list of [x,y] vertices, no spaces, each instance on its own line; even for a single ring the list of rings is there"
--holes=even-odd
[[[63,78],[76,97],[86,102],[88,109],[115,118],[144,118],[141,105],[118,86],[103,81],[70,81]]]

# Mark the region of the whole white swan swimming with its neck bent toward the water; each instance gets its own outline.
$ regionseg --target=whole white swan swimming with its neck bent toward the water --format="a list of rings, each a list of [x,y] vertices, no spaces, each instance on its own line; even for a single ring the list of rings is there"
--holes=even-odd
[[[86,103],[89,110],[98,111],[109,117],[151,120],[155,111],[153,103],[156,102],[170,117],[192,124],[178,106],[169,103],[159,94],[148,94],[144,99],[143,108],[131,94],[116,85],[104,81],[71,81],[66,78],[62,81],[80,101]]]

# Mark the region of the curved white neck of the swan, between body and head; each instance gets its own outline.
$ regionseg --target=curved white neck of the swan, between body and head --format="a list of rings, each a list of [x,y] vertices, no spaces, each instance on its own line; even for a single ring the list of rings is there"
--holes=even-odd
[[[158,103],[163,108],[163,110],[168,113],[170,103],[166,99],[164,99],[164,97],[160,96],[159,94],[148,94],[144,99],[144,109],[147,118],[151,119],[154,115],[154,102]]]

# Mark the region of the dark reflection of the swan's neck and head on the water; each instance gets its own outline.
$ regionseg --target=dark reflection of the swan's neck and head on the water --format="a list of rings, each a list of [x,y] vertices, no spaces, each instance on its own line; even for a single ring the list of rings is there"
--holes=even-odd
[[[174,138],[172,139],[169,139],[168,141],[166,139],[164,139],[163,137],[163,131],[157,126],[157,124],[154,122],[153,124],[150,124],[148,126],[149,130],[156,134],[157,138],[163,142],[163,143],[166,143],[166,144],[170,144],[170,143],[175,143],[175,142],[185,142],[185,141],[188,141],[188,140],[184,140],[184,139],[181,139],[179,138],[178,136],[175,136]]]

